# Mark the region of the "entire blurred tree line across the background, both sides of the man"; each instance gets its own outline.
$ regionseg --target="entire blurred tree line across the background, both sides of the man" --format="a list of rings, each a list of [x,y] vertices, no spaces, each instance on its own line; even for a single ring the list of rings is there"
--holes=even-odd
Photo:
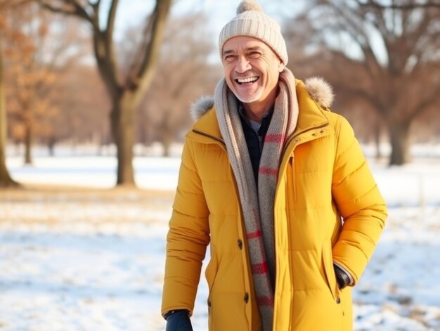
[[[221,67],[208,60],[216,45],[202,13],[167,20],[172,1],[153,2],[119,41],[124,1],[103,11],[101,1],[0,0],[0,186],[13,183],[6,132],[27,163],[35,143],[114,143],[117,185],[134,185],[135,143],[159,141],[168,155],[182,140],[190,103],[213,93]],[[301,13],[278,3],[294,74],[325,77],[361,140],[392,145],[389,164],[440,136],[437,1],[310,0]]]

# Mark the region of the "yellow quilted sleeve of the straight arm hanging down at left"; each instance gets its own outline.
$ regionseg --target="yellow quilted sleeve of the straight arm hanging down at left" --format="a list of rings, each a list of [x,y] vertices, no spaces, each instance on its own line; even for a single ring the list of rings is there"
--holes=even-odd
[[[193,143],[187,140],[169,221],[162,315],[174,309],[193,311],[202,260],[209,244],[208,215],[202,183],[193,160]]]

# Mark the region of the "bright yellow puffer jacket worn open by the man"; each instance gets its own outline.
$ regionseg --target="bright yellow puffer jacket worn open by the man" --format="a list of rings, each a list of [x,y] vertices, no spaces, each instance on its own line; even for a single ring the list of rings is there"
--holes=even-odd
[[[318,105],[302,82],[296,89],[299,118],[283,151],[273,211],[273,330],[352,330],[351,288],[338,289],[333,262],[358,282],[386,207],[347,120]],[[210,243],[209,330],[259,330],[238,190],[214,109],[186,137],[173,209],[162,313],[192,313]]]

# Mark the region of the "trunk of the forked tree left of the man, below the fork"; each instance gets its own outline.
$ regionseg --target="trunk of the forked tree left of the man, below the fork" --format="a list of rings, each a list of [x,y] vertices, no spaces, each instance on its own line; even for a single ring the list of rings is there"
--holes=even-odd
[[[122,92],[122,96],[113,100],[110,114],[113,141],[117,147],[117,185],[134,186],[133,146],[134,113],[133,94]]]

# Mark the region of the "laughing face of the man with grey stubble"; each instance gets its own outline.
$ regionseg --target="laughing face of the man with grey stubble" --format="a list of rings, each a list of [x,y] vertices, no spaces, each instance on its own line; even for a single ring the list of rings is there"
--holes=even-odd
[[[226,82],[238,100],[275,102],[283,65],[269,46],[252,37],[233,37],[224,44],[222,55]]]

